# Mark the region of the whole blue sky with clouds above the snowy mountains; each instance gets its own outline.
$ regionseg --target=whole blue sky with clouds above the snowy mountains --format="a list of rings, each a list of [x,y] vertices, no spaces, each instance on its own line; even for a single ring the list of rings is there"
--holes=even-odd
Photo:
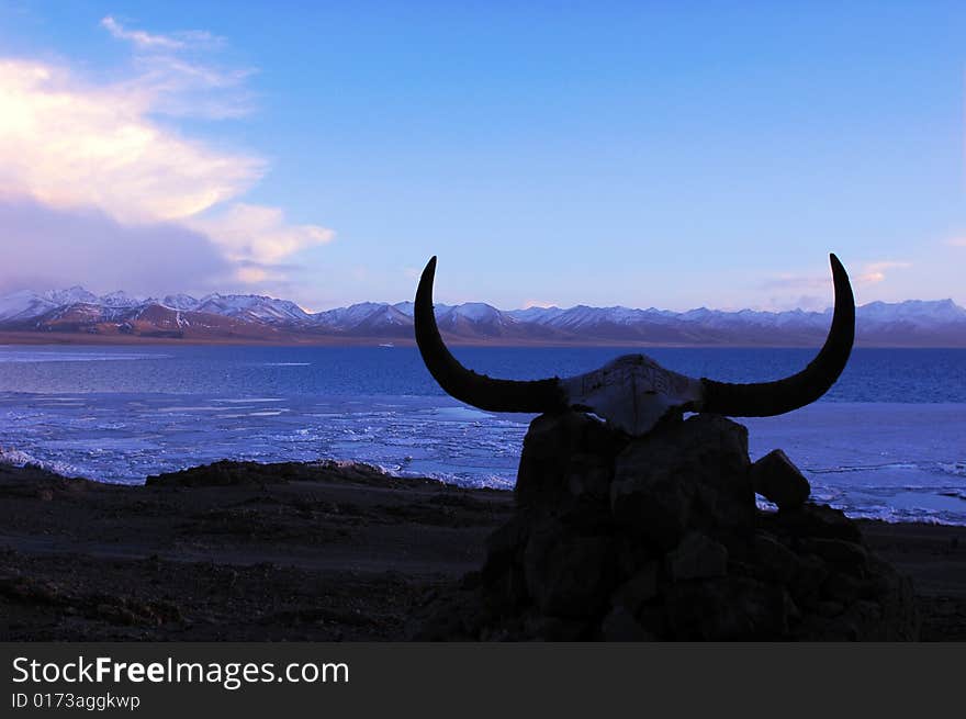
[[[0,0],[0,293],[966,305],[966,3]]]

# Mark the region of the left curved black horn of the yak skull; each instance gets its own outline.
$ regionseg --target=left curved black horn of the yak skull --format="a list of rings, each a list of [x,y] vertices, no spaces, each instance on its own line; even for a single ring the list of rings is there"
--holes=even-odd
[[[532,381],[495,380],[485,374],[476,374],[460,364],[447,349],[436,325],[436,315],[433,312],[435,277],[434,256],[419,278],[413,322],[423,361],[439,385],[460,402],[488,412],[543,413],[565,409],[566,397],[557,378]]]

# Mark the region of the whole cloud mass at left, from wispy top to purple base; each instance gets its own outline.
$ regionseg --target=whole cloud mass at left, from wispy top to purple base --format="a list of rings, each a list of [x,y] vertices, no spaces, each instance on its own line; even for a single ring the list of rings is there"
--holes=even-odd
[[[104,278],[109,267],[120,276],[170,236],[180,260],[188,260],[181,250],[192,243],[199,248],[202,261],[192,278],[207,273],[257,285],[283,282],[285,258],[332,240],[334,233],[321,225],[290,224],[280,207],[240,201],[265,176],[263,159],[187,137],[156,120],[217,119],[250,109],[244,83],[251,70],[220,68],[196,56],[221,38],[203,31],[132,30],[112,16],[101,25],[134,49],[120,80],[96,82],[63,64],[0,58],[0,202],[4,222],[36,232],[18,235],[18,262],[5,262],[0,276],[9,282],[11,272],[37,274],[70,243],[80,245],[66,257],[86,257],[86,245],[98,260],[76,263],[75,277],[65,280],[90,281],[81,274],[88,270]],[[68,232],[70,217],[86,218],[77,232]],[[81,232],[93,225],[103,229],[103,241]],[[149,270],[164,274],[169,265],[159,262]],[[148,281],[145,272],[138,276]],[[132,282],[124,280],[143,291]]]

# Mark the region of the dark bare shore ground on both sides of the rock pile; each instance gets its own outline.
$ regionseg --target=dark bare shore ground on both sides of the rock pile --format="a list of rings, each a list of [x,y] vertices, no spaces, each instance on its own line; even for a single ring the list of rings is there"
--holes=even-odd
[[[0,465],[0,639],[387,641],[479,569],[513,493],[351,462],[217,462],[145,485]],[[966,640],[966,528],[856,520],[923,640]]]

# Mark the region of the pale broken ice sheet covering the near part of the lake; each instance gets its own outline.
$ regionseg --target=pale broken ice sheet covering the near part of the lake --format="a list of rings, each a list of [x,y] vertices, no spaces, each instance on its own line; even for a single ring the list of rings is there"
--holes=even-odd
[[[401,475],[510,487],[530,419],[448,397],[49,400],[0,393],[0,447],[14,452],[9,461],[27,457],[121,483],[221,459],[347,459]],[[966,525],[966,405],[817,403],[740,422],[753,460],[783,449],[815,498],[851,516]]]

